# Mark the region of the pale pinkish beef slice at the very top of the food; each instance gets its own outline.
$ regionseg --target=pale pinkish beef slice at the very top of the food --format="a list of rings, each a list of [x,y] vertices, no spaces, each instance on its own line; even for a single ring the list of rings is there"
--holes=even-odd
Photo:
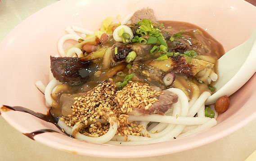
[[[156,22],[153,9],[150,9],[150,8],[140,9],[133,14],[130,20],[131,20],[131,23],[136,23],[138,21],[141,21],[144,18],[150,19],[152,22]]]

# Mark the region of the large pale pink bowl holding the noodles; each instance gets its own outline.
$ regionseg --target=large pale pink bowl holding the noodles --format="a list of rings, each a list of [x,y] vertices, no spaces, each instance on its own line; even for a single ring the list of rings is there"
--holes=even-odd
[[[71,25],[99,28],[107,16],[125,16],[143,7],[153,8],[158,20],[194,23],[219,40],[225,50],[245,41],[256,28],[256,8],[243,0],[62,0],[40,10],[19,24],[0,44],[0,103],[46,113],[44,96],[36,80],[48,83],[49,56]],[[256,54],[256,53],[255,53]],[[59,133],[44,133],[35,140],[61,150],[99,157],[149,157],[184,151],[220,139],[256,117],[256,74],[231,97],[229,110],[218,124],[200,134],[164,143],[113,146],[85,143]],[[23,112],[2,112],[22,133],[58,128]]]

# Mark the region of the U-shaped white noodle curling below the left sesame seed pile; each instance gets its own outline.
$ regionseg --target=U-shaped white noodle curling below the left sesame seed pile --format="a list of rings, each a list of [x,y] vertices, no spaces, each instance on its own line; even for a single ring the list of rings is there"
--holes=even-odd
[[[110,127],[109,130],[106,134],[99,136],[99,137],[90,137],[90,136],[86,136],[84,134],[79,133],[78,131],[83,127],[83,124],[80,123],[79,125],[74,125],[72,128],[72,136],[76,139],[79,140],[85,140],[88,141],[90,143],[106,143],[109,140],[111,140],[116,132],[117,132],[117,122],[111,121],[112,119],[109,118],[109,123],[110,123]],[[113,123],[113,125],[111,125]],[[76,132],[77,131],[77,132]]]

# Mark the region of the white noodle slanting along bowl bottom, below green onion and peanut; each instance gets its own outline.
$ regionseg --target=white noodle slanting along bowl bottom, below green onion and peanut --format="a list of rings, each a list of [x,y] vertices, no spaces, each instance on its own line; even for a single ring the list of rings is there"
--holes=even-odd
[[[204,130],[207,130],[207,129],[211,128],[212,126],[214,126],[216,124],[217,124],[217,121],[214,118],[212,118],[211,120],[207,121],[203,125],[199,125],[197,128],[195,128],[193,130],[190,130],[188,132],[180,134],[179,137],[185,137],[185,136],[189,136],[189,135],[192,135],[192,134],[195,134],[195,133],[198,133],[198,132],[202,132]]]

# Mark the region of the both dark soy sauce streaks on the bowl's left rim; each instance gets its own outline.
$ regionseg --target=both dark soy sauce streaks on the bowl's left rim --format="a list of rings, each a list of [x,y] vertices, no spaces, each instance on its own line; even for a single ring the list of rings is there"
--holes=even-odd
[[[1,110],[2,112],[8,112],[8,111],[19,111],[19,112],[25,112],[25,113],[29,113],[33,116],[36,116],[37,118],[40,118],[44,121],[47,121],[47,122],[50,122],[50,123],[53,123],[55,125],[57,125],[57,119],[55,119],[51,114],[50,112],[47,113],[47,115],[45,114],[42,114],[42,113],[39,113],[39,112],[34,112],[30,109],[27,109],[27,108],[24,108],[24,107],[21,107],[21,106],[7,106],[7,105],[3,105],[3,107],[1,107]],[[49,133],[52,133],[52,132],[56,132],[56,133],[59,133],[58,131],[55,131],[55,130],[51,130],[51,129],[41,129],[41,130],[36,130],[34,132],[31,132],[31,133],[24,133],[24,135],[26,135],[27,137],[29,137],[30,139],[32,140],[35,140],[34,137],[37,135],[37,134],[42,134],[42,133],[45,133],[45,132],[49,132]]]

